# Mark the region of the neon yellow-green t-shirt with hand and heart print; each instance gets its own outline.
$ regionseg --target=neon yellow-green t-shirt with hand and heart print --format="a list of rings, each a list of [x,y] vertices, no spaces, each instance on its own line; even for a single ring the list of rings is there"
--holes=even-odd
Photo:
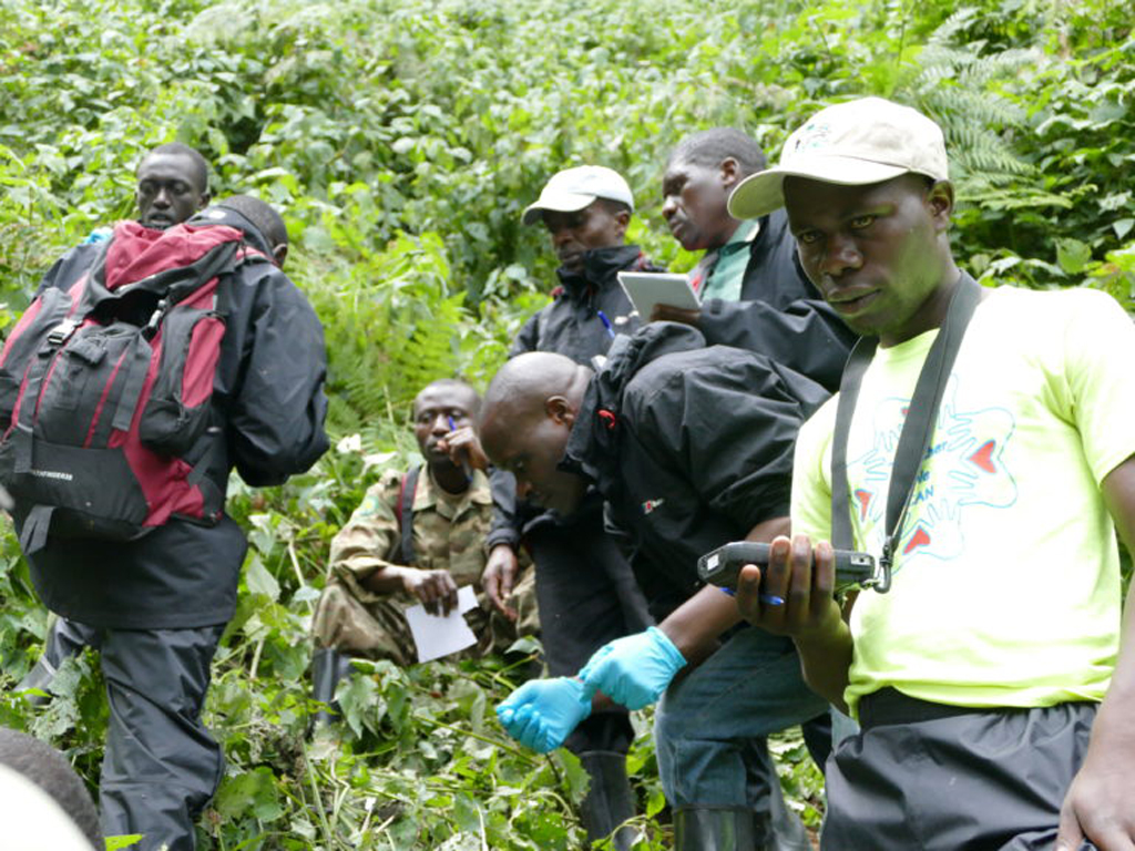
[[[880,348],[848,440],[856,548],[882,551],[907,406],[938,331]],[[846,692],[973,707],[1100,700],[1118,651],[1100,482],[1135,453],[1135,327],[1110,296],[1002,287],[977,307],[903,520],[890,593],[851,613]],[[800,431],[793,532],[831,534],[835,399]]]

